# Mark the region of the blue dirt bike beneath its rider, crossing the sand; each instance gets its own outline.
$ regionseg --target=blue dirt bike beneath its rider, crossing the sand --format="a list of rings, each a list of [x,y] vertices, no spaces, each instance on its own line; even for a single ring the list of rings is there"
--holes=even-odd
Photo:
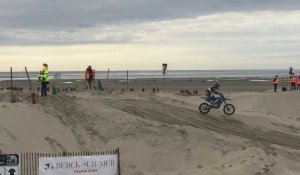
[[[221,95],[220,97],[217,97],[216,100],[213,102],[213,104],[211,104],[209,102],[207,97],[202,97],[202,98],[204,98],[207,101],[207,102],[201,103],[199,105],[199,111],[202,114],[209,113],[210,109],[213,109],[213,108],[219,109],[221,107],[222,103],[225,104],[224,107],[223,107],[223,112],[226,115],[232,115],[235,112],[234,105],[227,103],[227,101],[231,101],[231,99],[225,98],[223,95]]]

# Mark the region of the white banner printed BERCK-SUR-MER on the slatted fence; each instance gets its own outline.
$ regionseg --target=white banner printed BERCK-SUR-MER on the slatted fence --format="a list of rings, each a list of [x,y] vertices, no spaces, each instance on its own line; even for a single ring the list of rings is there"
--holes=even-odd
[[[117,175],[117,172],[117,155],[39,158],[39,175]]]

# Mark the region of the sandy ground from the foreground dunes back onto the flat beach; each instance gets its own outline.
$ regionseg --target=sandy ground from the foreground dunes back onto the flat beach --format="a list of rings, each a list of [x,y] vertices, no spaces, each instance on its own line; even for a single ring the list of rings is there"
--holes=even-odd
[[[122,175],[300,174],[300,91],[274,93],[271,80],[223,79],[221,91],[232,99],[236,113],[226,116],[214,109],[203,115],[198,106],[213,83],[208,80],[134,80],[129,84],[133,91],[124,93],[122,81],[102,81],[109,91],[86,90],[79,83],[75,91],[39,98],[37,104],[25,88],[17,103],[9,102],[10,91],[1,90],[0,149],[119,147]],[[199,94],[180,94],[186,89]]]

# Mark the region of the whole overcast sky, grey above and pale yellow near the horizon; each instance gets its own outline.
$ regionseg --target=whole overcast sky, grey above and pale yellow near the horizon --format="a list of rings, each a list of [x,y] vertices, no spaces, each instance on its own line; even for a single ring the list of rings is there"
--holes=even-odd
[[[300,68],[299,0],[0,0],[0,71]]]

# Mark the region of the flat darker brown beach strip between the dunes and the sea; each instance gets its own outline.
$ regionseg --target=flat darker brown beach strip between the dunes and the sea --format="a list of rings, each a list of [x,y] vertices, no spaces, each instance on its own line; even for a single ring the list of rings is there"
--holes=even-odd
[[[272,88],[272,78],[270,77],[227,77],[227,78],[147,78],[147,79],[100,79],[100,84],[103,89],[108,91],[120,91],[124,88],[127,91],[141,92],[144,88],[145,91],[153,92],[153,88],[160,91],[166,90],[171,93],[180,93],[181,90],[189,90],[193,92],[198,90],[199,93],[205,92],[205,90],[215,84],[216,82],[222,84],[222,91],[226,92],[264,92]],[[283,82],[283,81],[281,81]],[[31,80],[33,89],[40,87],[40,82],[36,79]],[[76,88],[78,90],[85,89],[86,82],[83,79],[63,79],[50,80],[51,88],[53,85],[59,85],[60,89],[66,88]],[[285,85],[288,85],[287,79],[285,80]],[[10,87],[10,80],[0,81],[0,88]],[[92,83],[92,86],[98,87],[98,80]],[[282,85],[278,87],[281,88]],[[14,80],[13,87],[20,88],[24,90],[29,89],[29,83],[27,80]],[[50,89],[51,90],[51,89]]]

